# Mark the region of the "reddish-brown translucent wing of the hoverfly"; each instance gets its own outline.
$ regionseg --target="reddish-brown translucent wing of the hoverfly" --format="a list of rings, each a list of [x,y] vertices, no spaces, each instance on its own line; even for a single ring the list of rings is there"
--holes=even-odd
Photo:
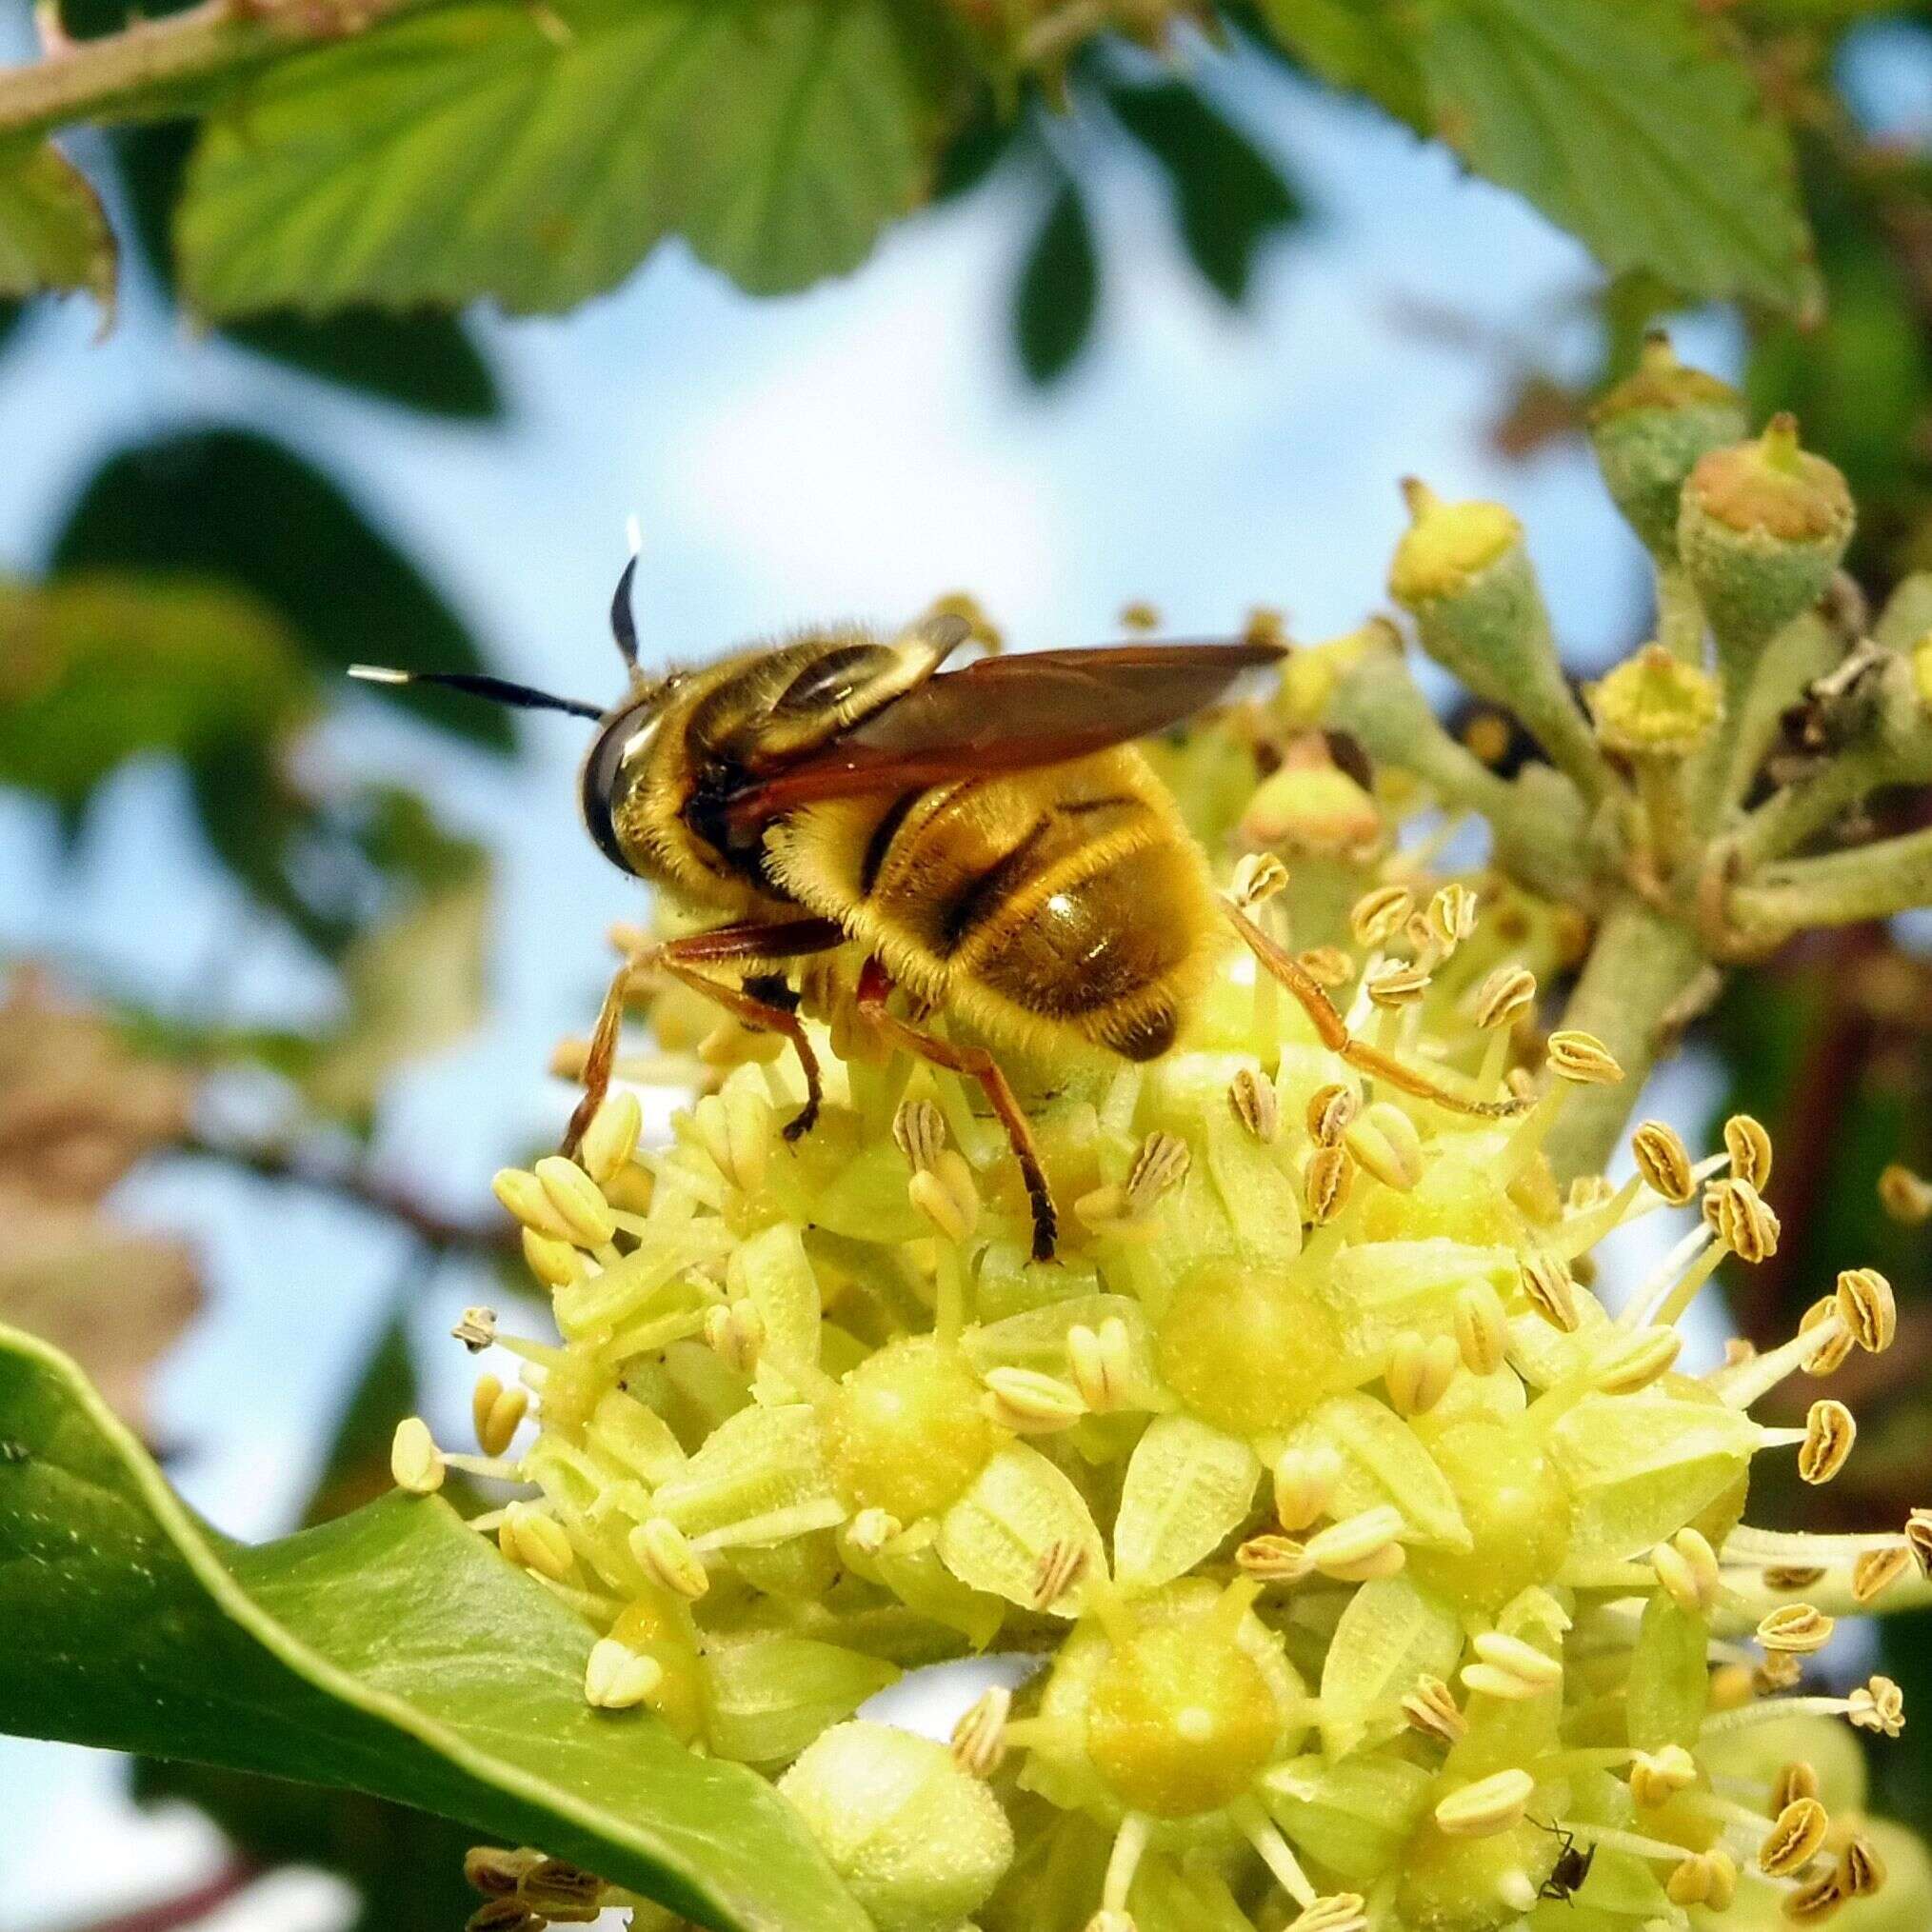
[[[1122,643],[981,657],[927,678],[810,757],[726,802],[738,827],[821,798],[856,798],[978,773],[1037,771],[1146,738],[1206,709],[1265,643]]]

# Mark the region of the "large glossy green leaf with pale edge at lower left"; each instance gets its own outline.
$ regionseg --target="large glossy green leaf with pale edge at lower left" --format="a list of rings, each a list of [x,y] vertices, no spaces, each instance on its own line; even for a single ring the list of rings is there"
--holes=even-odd
[[[769,1785],[583,1702],[589,1629],[446,1503],[214,1538],[12,1329],[0,1441],[8,1729],[413,1803],[726,1932],[864,1932]]]

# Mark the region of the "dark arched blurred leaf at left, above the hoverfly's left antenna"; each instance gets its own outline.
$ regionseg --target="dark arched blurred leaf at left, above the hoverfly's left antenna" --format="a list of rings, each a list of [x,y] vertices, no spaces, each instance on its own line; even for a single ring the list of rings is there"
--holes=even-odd
[[[54,541],[56,570],[195,570],[251,589],[309,661],[479,670],[450,607],[328,477],[247,429],[172,431],[112,456]],[[419,686],[369,686],[437,730],[493,752],[514,744],[497,705]]]

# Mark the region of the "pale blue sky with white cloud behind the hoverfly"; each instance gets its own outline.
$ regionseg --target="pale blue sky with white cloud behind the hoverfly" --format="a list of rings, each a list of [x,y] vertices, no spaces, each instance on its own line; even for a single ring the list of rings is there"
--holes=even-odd
[[[37,319],[0,367],[0,564],[37,558],[108,448],[242,419],[348,481],[502,668],[597,697],[618,674],[603,609],[630,512],[645,531],[641,624],[663,657],[813,616],[895,620],[958,585],[1022,645],[1105,638],[1130,597],[1182,634],[1273,603],[1316,638],[1379,603],[1401,527],[1395,481],[1414,471],[1519,508],[1578,661],[1625,647],[1640,558],[1588,462],[1492,456],[1482,431],[1507,357],[1445,346],[1412,321],[1453,313],[1575,371],[1590,348],[1582,253],[1368,110],[1258,62],[1209,58],[1202,73],[1269,129],[1314,220],[1264,259],[1250,311],[1229,317],[1173,255],[1153,178],[1128,158],[1105,168],[1099,336],[1047,400],[1007,348],[1020,226],[1001,189],[908,224],[858,276],[804,298],[748,303],[667,249],[566,321],[485,323],[512,398],[510,427],[489,433],[184,340],[135,292],[106,344],[68,309]],[[1092,139],[1078,126],[1066,137]],[[1714,367],[1737,352],[1712,319],[1679,342]],[[587,1022],[607,972],[601,935],[636,912],[572,817],[580,742],[570,721],[531,721],[529,757],[506,775],[355,707],[319,746],[346,771],[410,773],[498,858],[491,1024],[400,1082],[377,1148],[388,1173],[452,1209],[473,1209],[491,1169],[554,1132],[549,1045]],[[315,976],[247,931],[222,881],[189,862],[164,773],[129,773],[102,821],[112,846],[62,873],[41,819],[0,802],[0,949],[141,958],[164,995],[185,995],[234,951],[243,1003],[313,1010]],[[1694,1078],[1660,1101],[1694,1115]],[[224,1528],[272,1532],[404,1256],[325,1202],[205,1175],[137,1180],[128,1211],[189,1227],[213,1283],[209,1316],[160,1383],[162,1434],[185,1445],[182,1486]],[[466,1298],[473,1285],[448,1277],[425,1339]],[[450,1360],[437,1391],[450,1435],[462,1385]],[[211,1855],[191,1820],[133,1822],[99,1756],[0,1741],[0,1926],[131,1901]],[[332,1911],[327,1888],[282,1888],[228,1924],[319,1928]]]

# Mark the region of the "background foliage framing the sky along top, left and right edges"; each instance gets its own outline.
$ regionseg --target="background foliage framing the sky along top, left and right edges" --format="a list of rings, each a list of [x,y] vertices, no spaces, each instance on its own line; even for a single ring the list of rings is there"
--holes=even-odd
[[[1219,60],[1265,58],[1445,143],[1600,265],[1578,284],[1602,344],[1584,379],[1515,338],[1472,340],[1513,381],[1499,446],[1534,456],[1573,439],[1646,323],[1733,301],[1754,408],[1795,408],[1859,495],[1859,576],[1882,593],[1932,566],[1932,158],[1888,139],[1841,85],[1849,41],[1878,19],[1928,27],[1932,10],[311,0],[133,23],[114,0],[70,0],[52,19],[43,60],[0,75],[0,354],[27,305],[85,292],[110,313],[133,276],[180,323],[344,398],[502,439],[510,410],[469,303],[564,311],[667,240],[748,294],[784,294],[858,269],[922,203],[999,197],[1014,222],[1012,352],[1049,388],[1103,309],[1092,199],[1115,155],[1153,170],[1177,259],[1231,309],[1265,251],[1306,232],[1306,191],[1269,129],[1236,124],[1200,85]],[[81,126],[106,131],[66,139]],[[106,452],[44,553],[0,585],[0,784],[81,854],[116,837],[108,781],[174,761],[207,866],[336,995],[323,1020],[243,1022],[218,999],[184,1020],[147,997],[129,935],[93,974],[99,1012],[25,974],[0,1009],[0,1184],[10,1227],[27,1231],[0,1267],[0,1314],[83,1337],[135,1418],[145,1364],[195,1298],[180,1244],[104,1208],[156,1148],[352,1194],[415,1252],[489,1260],[500,1244],[481,1209],[437,1211],[365,1155],[394,1068],[483,1009],[491,881],[425,796],[336,755],[354,659],[475,668],[491,639],[327,473],[299,423],[270,437],[174,421]],[[383,701],[481,759],[516,755],[502,713]],[[1922,810],[1899,802],[1893,829]],[[1708,1041],[1729,1068],[1725,1107],[1774,1128],[1772,1200],[1804,1231],[1733,1296],[1739,1331],[1789,1329],[1845,1254],[1917,1287],[1922,1240],[1876,1213],[1874,1188],[1891,1159],[1932,1167],[1922,956],[1880,929],[1812,941],[1741,976]],[[201,1099],[238,1078],[270,1084],[272,1126],[211,1136]],[[89,1320],[108,1281],[133,1310],[112,1333]],[[1932,1310],[1905,1320],[1903,1358],[1932,1366]],[[388,1327],[371,1352],[315,1520],[379,1480],[373,1445],[413,1405],[404,1337]],[[1847,1522],[1897,1515],[1911,1488],[1932,1418],[1913,1393],[1924,1378],[1897,1381],[1886,1420],[1868,1422],[1893,1453],[1866,1459],[1861,1490],[1847,1478],[1828,1495]],[[1859,1406],[1874,1414],[1870,1395]],[[1911,1694],[1924,1633],[1899,1623],[1886,1642]],[[1924,1828],[1932,1731],[1905,1743],[1888,1756],[1889,1801]],[[176,1768],[143,1770],[139,1789],[207,1806],[245,1868],[298,1851],[332,1864],[363,1888],[371,1924],[458,1909],[446,1853],[464,1833],[446,1826]]]

